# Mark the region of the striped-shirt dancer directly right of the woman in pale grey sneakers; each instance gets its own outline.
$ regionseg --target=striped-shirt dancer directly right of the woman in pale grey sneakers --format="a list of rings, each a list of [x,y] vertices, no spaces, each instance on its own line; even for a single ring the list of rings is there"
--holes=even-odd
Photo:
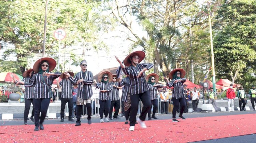
[[[112,113],[113,113],[113,107],[115,107],[115,113],[113,115],[114,119],[119,119],[117,117],[119,109],[120,109],[120,97],[119,97],[119,89],[122,89],[122,87],[119,87],[119,78],[117,78],[116,74],[113,74],[113,80],[112,80],[112,86],[113,89],[111,90],[111,105],[110,105],[110,111],[109,111],[109,120],[112,120]]]

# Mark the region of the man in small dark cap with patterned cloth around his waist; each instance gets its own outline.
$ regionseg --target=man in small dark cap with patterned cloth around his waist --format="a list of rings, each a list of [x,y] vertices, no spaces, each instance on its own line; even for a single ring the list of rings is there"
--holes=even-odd
[[[93,90],[91,89],[91,85],[94,83],[93,73],[87,70],[86,60],[82,60],[80,62],[80,67],[81,67],[81,71],[75,75],[74,79],[70,76],[68,72],[65,72],[65,75],[69,76],[69,80],[71,81],[71,83],[78,85],[77,100],[83,101],[82,105],[81,103],[79,103],[76,106],[75,126],[81,126],[81,115],[82,115],[83,105],[85,105],[87,108],[88,124],[91,124],[91,96],[93,95]]]

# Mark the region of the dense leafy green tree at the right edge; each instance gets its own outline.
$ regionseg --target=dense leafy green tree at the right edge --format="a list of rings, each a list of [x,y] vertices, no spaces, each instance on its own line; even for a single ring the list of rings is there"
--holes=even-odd
[[[218,11],[214,58],[217,71],[237,76],[253,67],[256,59],[256,1],[233,0]]]

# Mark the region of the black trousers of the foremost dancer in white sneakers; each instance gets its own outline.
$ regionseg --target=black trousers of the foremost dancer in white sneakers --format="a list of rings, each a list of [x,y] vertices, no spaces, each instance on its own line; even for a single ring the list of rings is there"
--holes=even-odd
[[[145,121],[147,111],[151,106],[150,93],[149,91],[145,91],[144,93],[140,93],[140,94],[132,94],[130,96],[130,99],[131,99],[131,111],[130,111],[129,121],[130,121],[130,126],[135,126],[136,115],[139,108],[138,105],[140,100],[143,103],[143,108],[139,118],[140,120]]]

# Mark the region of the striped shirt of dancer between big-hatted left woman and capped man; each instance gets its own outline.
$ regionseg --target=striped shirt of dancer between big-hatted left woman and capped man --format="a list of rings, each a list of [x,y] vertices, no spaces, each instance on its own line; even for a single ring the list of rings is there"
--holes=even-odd
[[[70,99],[72,98],[72,83],[69,79],[62,79],[59,82],[61,89],[61,98]]]

